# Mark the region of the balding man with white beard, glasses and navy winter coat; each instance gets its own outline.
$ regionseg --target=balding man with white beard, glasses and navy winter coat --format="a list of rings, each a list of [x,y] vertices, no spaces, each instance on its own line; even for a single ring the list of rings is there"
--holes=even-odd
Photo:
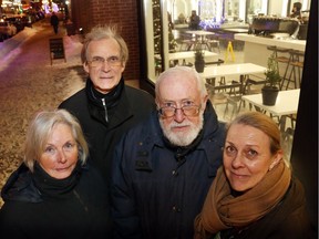
[[[115,238],[193,238],[194,219],[222,164],[224,125],[198,73],[168,69],[155,95],[157,113],[132,128],[115,152]]]

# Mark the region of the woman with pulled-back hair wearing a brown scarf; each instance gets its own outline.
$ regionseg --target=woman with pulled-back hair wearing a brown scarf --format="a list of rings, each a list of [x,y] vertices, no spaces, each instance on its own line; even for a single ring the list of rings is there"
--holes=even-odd
[[[284,159],[280,131],[249,112],[227,126],[224,159],[195,219],[202,238],[312,238],[300,181]]]

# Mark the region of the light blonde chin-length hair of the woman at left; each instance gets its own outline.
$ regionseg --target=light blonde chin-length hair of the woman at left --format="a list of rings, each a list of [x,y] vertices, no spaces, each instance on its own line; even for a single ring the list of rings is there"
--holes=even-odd
[[[78,143],[79,160],[82,165],[86,162],[89,146],[78,119],[65,110],[43,111],[35,115],[27,132],[23,160],[31,172],[33,172],[34,162],[43,153],[53,127],[58,124],[70,126]]]

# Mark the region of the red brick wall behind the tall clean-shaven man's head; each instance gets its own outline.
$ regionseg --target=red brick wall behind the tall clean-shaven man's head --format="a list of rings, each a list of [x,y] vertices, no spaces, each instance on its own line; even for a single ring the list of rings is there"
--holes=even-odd
[[[140,46],[137,0],[71,0],[71,19],[74,28],[83,28],[84,34],[94,25],[116,23],[128,46],[125,80],[140,79]]]

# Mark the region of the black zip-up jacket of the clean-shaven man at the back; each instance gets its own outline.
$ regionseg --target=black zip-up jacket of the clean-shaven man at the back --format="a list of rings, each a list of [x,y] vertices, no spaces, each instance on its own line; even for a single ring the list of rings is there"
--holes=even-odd
[[[103,102],[92,93],[90,79],[88,79],[85,89],[79,91],[59,106],[68,110],[80,121],[90,146],[91,158],[101,169],[107,183],[115,145],[124,133],[155,110],[155,101],[151,94],[124,85],[123,79],[115,90],[119,94],[113,94],[114,97],[109,96],[110,100],[106,98],[106,104],[110,103],[106,110],[109,122],[105,121]],[[109,94],[111,95],[112,92]]]

